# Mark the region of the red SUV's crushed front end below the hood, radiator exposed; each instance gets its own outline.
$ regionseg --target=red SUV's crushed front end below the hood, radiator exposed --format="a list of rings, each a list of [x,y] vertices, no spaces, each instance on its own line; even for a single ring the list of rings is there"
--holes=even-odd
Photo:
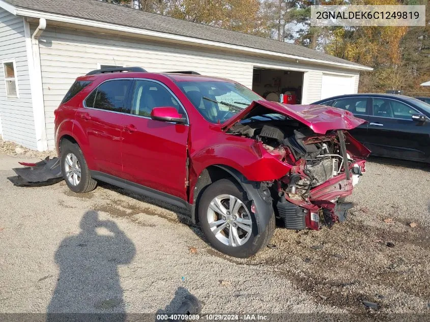
[[[363,156],[347,152],[346,143],[351,144],[351,139],[348,132],[341,130],[323,136],[303,136],[296,131],[289,139],[302,149],[286,155],[285,162],[293,167],[274,181],[276,211],[285,228],[318,230],[321,225],[331,228],[335,222],[345,220],[352,204],[343,200],[365,172]],[[293,146],[286,149],[292,151]]]

